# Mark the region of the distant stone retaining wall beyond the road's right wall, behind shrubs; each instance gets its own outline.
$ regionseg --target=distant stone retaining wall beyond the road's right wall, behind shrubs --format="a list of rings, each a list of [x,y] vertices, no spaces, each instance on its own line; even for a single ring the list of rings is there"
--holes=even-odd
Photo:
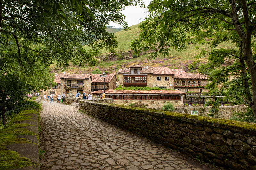
[[[211,106],[204,107],[204,106],[182,106],[182,107],[175,107],[175,112],[183,113],[183,114],[191,114],[191,111],[198,111],[199,116],[207,116],[210,112]],[[220,119],[230,119],[235,112],[245,112],[246,107],[244,106],[220,106],[218,114],[215,116],[216,118]]]

